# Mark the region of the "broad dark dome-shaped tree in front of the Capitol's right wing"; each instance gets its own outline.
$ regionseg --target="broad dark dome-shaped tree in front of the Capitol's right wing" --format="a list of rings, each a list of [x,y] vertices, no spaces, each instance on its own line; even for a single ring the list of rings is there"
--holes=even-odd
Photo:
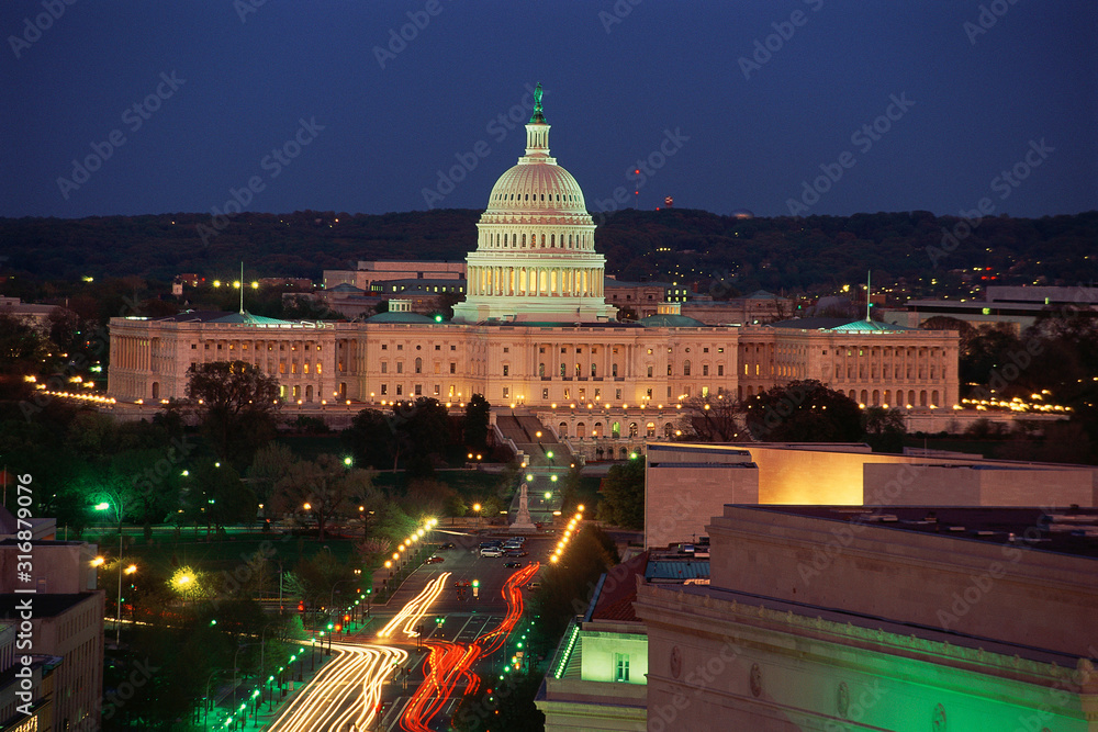
[[[754,394],[746,399],[747,425],[755,440],[855,442],[862,437],[858,404],[815,380]]]

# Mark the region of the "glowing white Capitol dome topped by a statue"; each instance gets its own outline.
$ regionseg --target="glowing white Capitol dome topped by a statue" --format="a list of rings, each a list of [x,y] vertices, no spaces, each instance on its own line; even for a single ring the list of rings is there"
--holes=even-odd
[[[526,155],[506,170],[477,223],[466,258],[466,301],[455,323],[598,323],[614,319],[603,296],[606,258],[572,174],[549,155],[541,85],[526,125]]]

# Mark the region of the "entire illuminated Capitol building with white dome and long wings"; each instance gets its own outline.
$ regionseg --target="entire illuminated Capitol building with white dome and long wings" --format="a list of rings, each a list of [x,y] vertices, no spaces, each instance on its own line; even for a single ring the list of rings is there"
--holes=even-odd
[[[617,458],[669,438],[687,398],[743,398],[816,379],[866,406],[957,403],[957,336],[870,320],[706,325],[679,303],[635,323],[604,297],[605,258],[575,179],[549,153],[540,94],[526,150],[497,180],[467,258],[467,292],[436,322],[390,301],[363,322],[288,322],[188,311],[112,318],[109,393],[184,398],[189,370],[255,363],[287,407],[343,410],[483,394],[525,409],[575,451]]]

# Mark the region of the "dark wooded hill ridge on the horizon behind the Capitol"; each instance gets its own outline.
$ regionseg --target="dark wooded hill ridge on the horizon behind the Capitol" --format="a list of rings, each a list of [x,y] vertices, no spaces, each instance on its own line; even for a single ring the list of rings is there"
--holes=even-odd
[[[81,219],[0,218],[4,273],[77,282],[180,272],[321,278],[360,259],[462,259],[479,211],[381,215],[303,211]],[[222,228],[219,229],[217,226]],[[596,246],[620,279],[675,279],[706,292],[762,288],[829,293],[874,282],[912,295],[963,293],[971,281],[1074,284],[1098,277],[1098,212],[966,222],[929,212],[736,218],[705,211],[626,210],[601,223]],[[1093,256],[1094,255],[1094,256]],[[963,284],[968,282],[970,284]]]

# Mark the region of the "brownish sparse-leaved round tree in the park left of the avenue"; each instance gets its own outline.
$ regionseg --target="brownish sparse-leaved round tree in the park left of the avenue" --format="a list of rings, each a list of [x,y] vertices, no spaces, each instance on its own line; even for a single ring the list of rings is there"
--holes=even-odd
[[[311,514],[316,519],[320,541],[324,541],[327,525],[357,510],[356,499],[370,489],[371,483],[369,471],[348,469],[336,455],[322,454],[315,461],[293,463],[276,483],[271,504],[283,514],[298,510]]]

